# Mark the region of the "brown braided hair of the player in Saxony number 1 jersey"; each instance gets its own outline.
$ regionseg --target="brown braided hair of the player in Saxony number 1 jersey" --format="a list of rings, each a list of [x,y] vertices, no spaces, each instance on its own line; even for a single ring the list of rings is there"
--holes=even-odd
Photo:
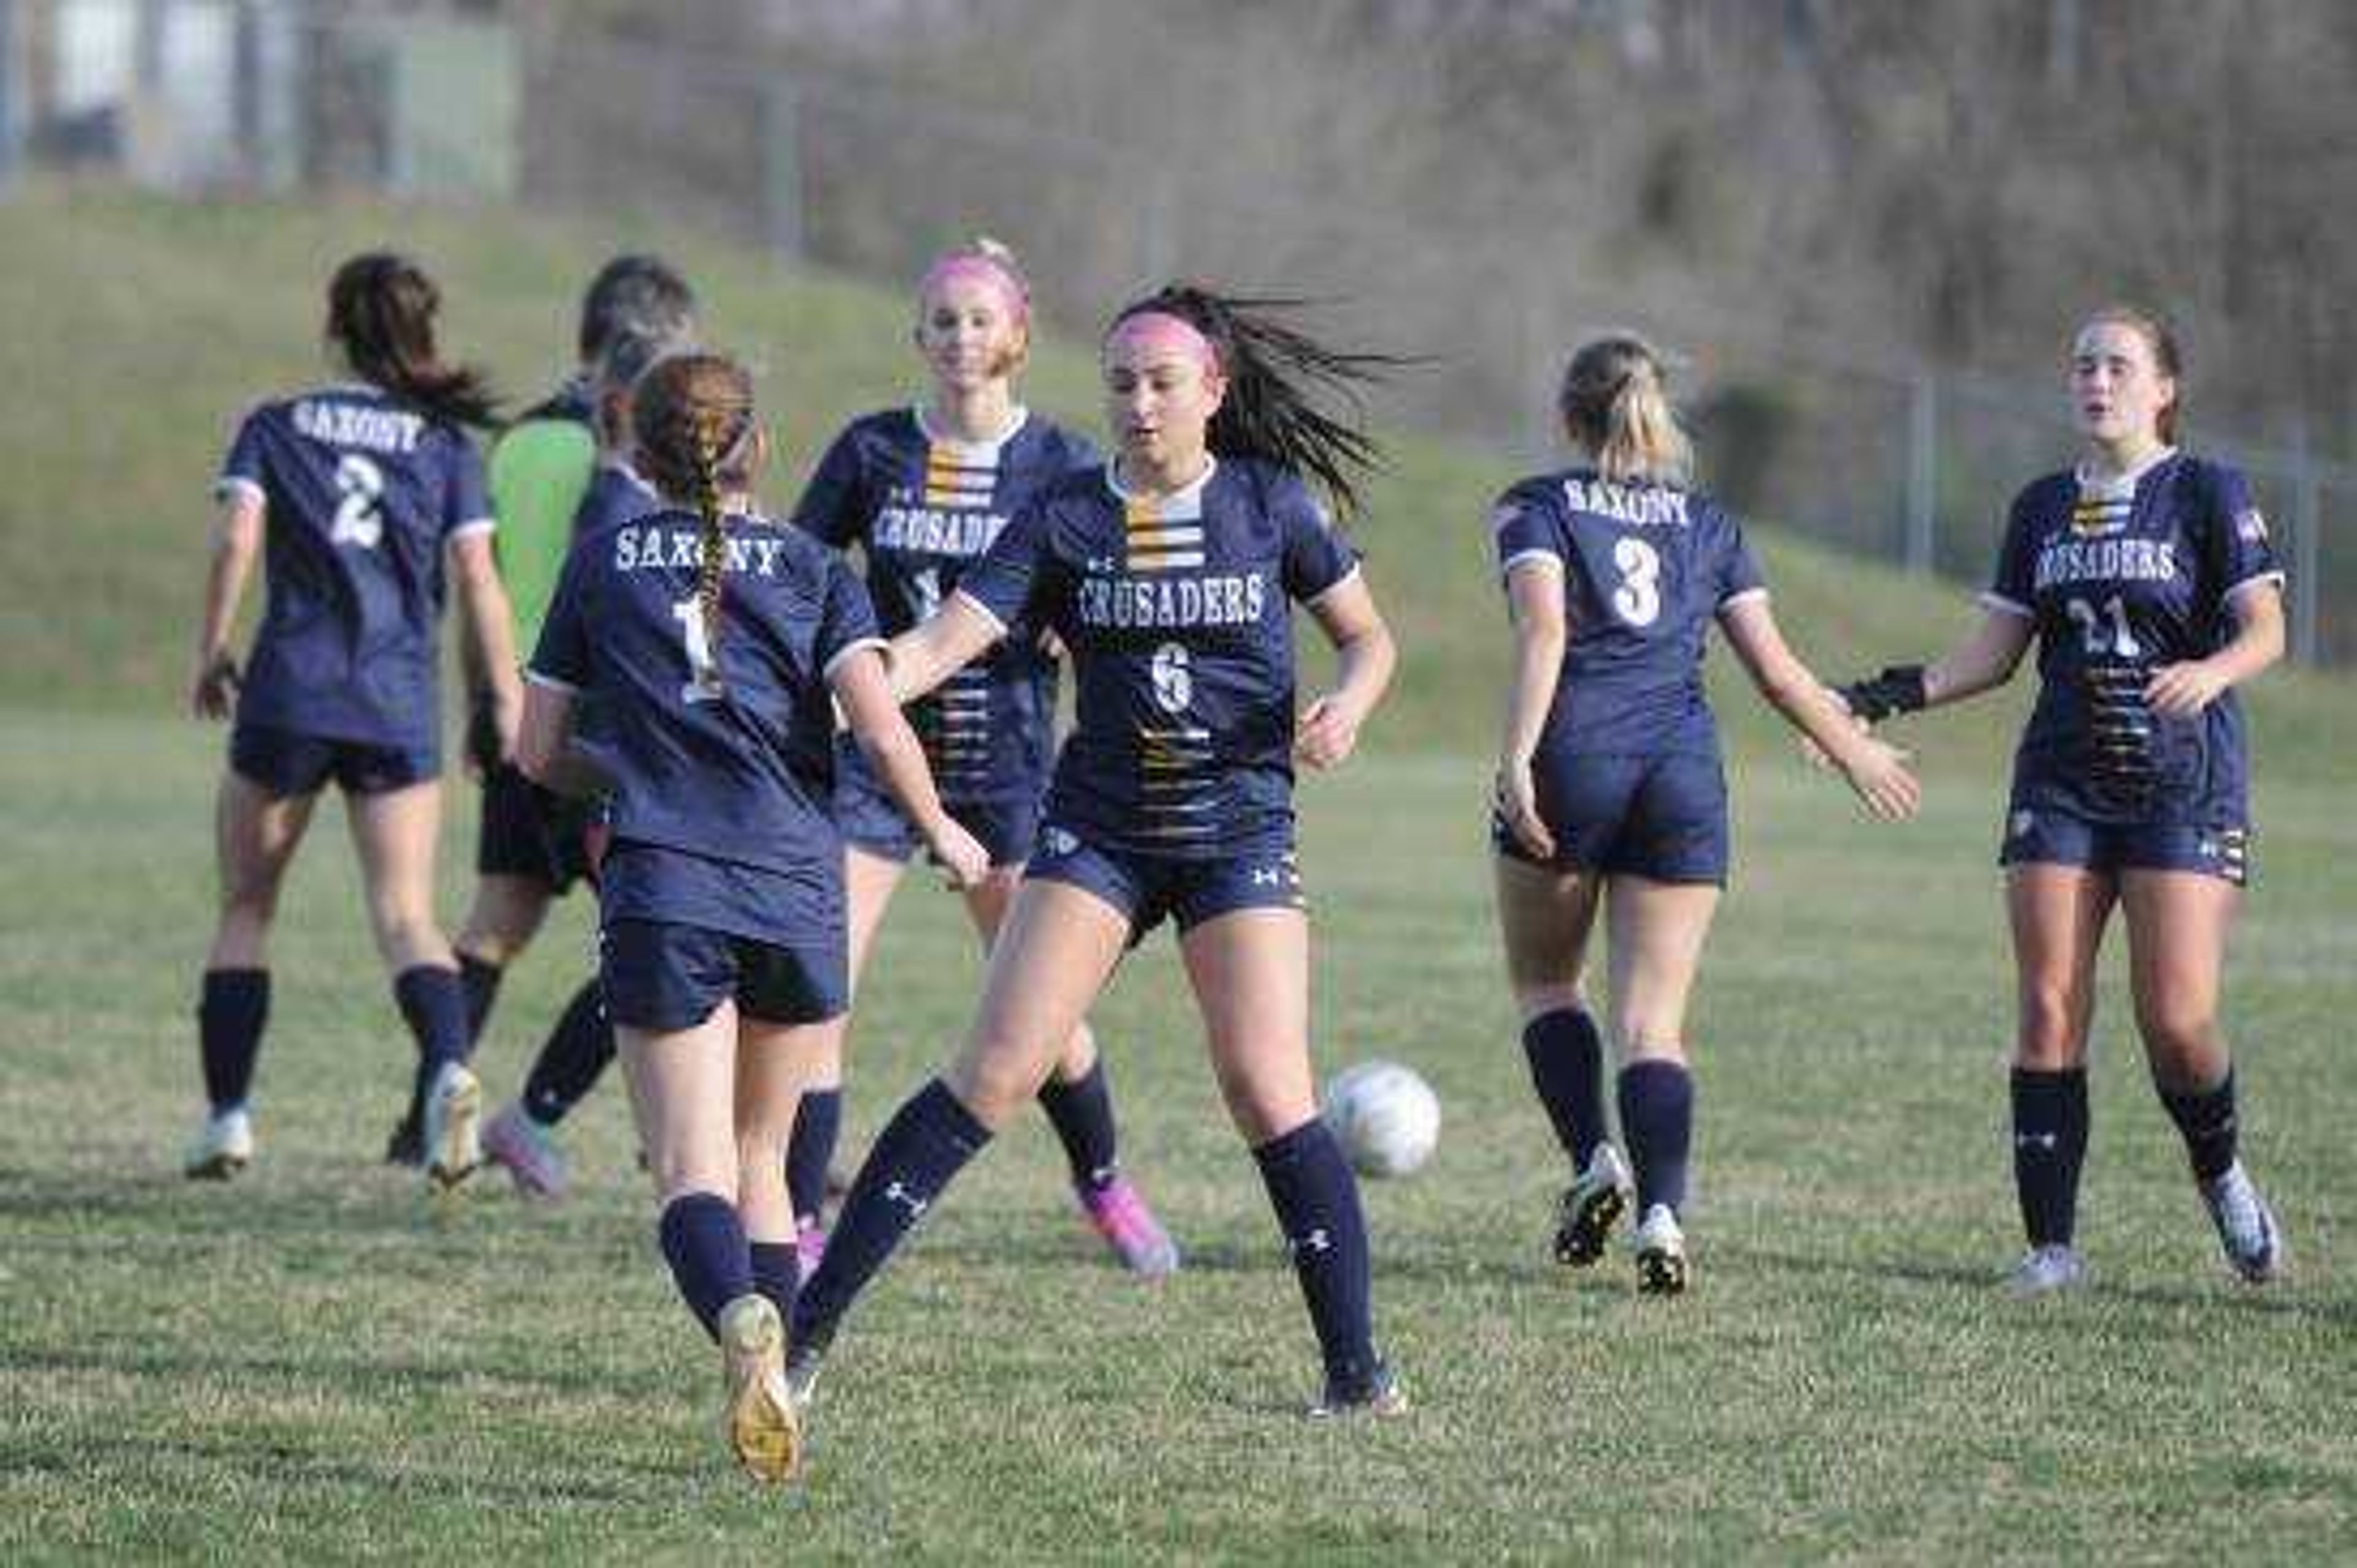
[[[712,679],[721,658],[721,493],[752,481],[752,377],[719,354],[672,354],[639,380],[632,398],[639,469],[665,500],[702,519],[695,599],[702,606]]]

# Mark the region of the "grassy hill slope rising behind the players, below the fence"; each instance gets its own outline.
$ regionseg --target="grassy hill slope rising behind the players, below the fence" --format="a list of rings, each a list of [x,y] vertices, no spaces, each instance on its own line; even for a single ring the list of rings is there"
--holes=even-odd
[[[445,342],[488,363],[521,406],[568,363],[587,274],[622,248],[674,255],[707,299],[714,342],[752,358],[790,505],[834,427],[910,396],[907,302],[846,278],[618,217],[382,203],[179,205],[35,186],[0,205],[0,311],[14,387],[0,420],[0,700],[78,710],[170,707],[198,601],[205,483],[243,406],[323,375],[321,295],[337,259],[394,243],[445,290]],[[1313,278],[1303,281],[1315,285]],[[1042,344],[1028,398],[1094,427],[1087,344]],[[1483,516],[1513,476],[1483,453],[1398,436],[1360,540],[1407,651],[1384,747],[1485,750],[1504,630]],[[1756,528],[1796,646],[1827,674],[1930,653],[1970,620],[1959,585],[1921,582]],[[259,599],[259,597],[255,597]],[[1721,660],[1723,663],[1723,660]],[[1721,677],[1728,672],[1721,670]],[[1926,764],[1992,766],[2022,693],[1926,731]],[[1739,747],[1777,743],[1747,698],[1723,703]],[[2345,681],[2277,674],[2258,693],[2267,766],[2333,766],[2357,717]]]

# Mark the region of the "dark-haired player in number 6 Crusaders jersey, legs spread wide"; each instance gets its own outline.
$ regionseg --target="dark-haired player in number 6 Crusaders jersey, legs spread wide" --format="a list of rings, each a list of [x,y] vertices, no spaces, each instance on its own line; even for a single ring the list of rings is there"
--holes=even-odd
[[[856,1292],[1032,1099],[1122,950],[1171,917],[1211,1068],[1308,1299],[1325,1358],[1313,1410],[1398,1412],[1358,1184],[1310,1085],[1292,806],[1294,757],[1348,757],[1391,681],[1358,556],[1303,483],[1353,505],[1374,450],[1310,394],[1351,389],[1369,358],[1263,304],[1164,288],[1115,318],[1101,363],[1113,462],[1049,486],[938,615],[893,639],[893,689],[915,696],[1044,625],[1072,653],[1077,724],[973,1026],[853,1179],[801,1294],[792,1379],[808,1394]],[[1339,651],[1334,689],[1299,722],[1294,601]]]

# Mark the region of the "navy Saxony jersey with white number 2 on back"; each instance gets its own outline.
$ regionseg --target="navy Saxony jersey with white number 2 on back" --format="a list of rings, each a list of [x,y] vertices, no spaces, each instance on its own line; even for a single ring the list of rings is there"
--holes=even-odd
[[[245,415],[217,495],[259,495],[269,604],[238,722],[434,750],[443,547],[490,531],[467,436],[375,387]]]

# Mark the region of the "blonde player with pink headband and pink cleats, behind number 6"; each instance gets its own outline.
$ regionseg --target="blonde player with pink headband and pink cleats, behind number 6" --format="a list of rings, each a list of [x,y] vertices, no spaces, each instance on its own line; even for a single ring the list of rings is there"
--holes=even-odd
[[[936,259],[917,285],[917,351],[933,373],[931,396],[853,420],[794,509],[797,523],[837,549],[858,545],[886,634],[931,620],[959,573],[1032,495],[1096,467],[1084,439],[1016,403],[1028,349],[1030,285],[1014,252],[976,241]],[[1056,655],[1044,641],[1037,630],[1018,627],[910,707],[943,799],[990,846],[990,877],[966,889],[966,913],[985,948],[1032,851],[1054,759]],[[858,983],[917,835],[849,745],[834,809],[846,842]],[[787,1170],[808,1266],[825,1245],[820,1203],[841,1118],[841,1063],[827,1063],[818,1082],[801,1101]],[[1122,1174],[1113,1094],[1087,1023],[1058,1052],[1039,1106],[1063,1141],[1080,1210],[1113,1254],[1146,1278],[1176,1269],[1178,1250]]]

